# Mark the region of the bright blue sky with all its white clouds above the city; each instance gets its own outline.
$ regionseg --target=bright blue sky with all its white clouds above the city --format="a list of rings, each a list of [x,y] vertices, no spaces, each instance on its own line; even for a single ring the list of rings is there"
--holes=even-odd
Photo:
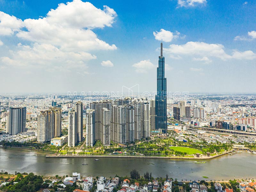
[[[153,92],[161,41],[168,92],[255,92],[256,1],[67,2],[0,0],[0,92]]]

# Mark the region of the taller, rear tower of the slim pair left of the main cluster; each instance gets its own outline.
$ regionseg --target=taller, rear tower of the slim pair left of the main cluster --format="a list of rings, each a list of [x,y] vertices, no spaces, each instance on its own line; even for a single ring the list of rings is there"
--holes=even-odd
[[[77,122],[77,141],[81,142],[83,140],[83,103],[77,101],[75,104],[76,111],[76,122]]]

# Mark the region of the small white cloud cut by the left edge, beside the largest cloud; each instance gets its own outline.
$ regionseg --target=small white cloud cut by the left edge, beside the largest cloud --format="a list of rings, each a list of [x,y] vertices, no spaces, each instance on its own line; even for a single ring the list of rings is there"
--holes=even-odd
[[[0,35],[13,35],[24,26],[23,21],[0,11]]]

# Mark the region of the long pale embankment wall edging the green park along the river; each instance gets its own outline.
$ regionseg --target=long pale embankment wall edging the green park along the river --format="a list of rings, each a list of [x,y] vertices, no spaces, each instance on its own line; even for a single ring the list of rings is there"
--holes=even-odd
[[[147,159],[186,159],[186,160],[209,160],[222,155],[228,154],[230,151],[226,151],[222,154],[215,156],[203,156],[203,157],[177,157],[177,156],[118,156],[118,155],[56,155],[47,154],[46,158],[73,158],[73,157],[86,157],[86,158],[99,158],[99,157],[112,157],[112,158],[147,158]]]

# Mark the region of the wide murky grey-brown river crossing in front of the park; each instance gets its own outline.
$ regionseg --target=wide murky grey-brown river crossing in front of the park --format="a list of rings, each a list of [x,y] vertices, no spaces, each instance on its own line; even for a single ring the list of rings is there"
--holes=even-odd
[[[256,179],[256,155],[237,153],[223,155],[206,163],[195,164],[195,160],[146,159],[146,158],[45,158],[46,153],[30,149],[0,148],[0,170],[10,173],[34,172],[40,175],[70,175],[79,172],[86,176],[114,177],[130,175],[137,169],[140,175],[152,172],[153,177],[166,174],[178,180],[229,180],[234,178]],[[88,165],[82,165],[82,163]]]

